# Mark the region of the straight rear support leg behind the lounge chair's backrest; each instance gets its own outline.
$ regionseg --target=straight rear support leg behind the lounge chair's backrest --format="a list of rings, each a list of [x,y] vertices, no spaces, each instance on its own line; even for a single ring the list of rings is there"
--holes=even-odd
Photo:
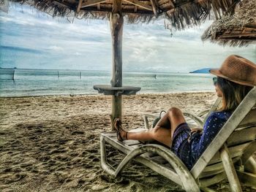
[[[230,183],[231,191],[242,191],[238,176],[236,174],[236,169],[233,165],[233,161],[230,158],[230,153],[227,149],[227,145],[224,144],[219,150],[220,156],[222,158],[222,164],[224,166],[225,172],[227,174],[227,180]]]

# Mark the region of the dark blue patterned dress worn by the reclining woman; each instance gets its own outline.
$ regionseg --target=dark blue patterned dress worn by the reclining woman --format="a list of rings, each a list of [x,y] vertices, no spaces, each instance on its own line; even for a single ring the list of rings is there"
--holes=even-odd
[[[212,112],[203,126],[203,133],[196,132],[192,135],[187,123],[181,123],[174,131],[171,150],[181,158],[188,169],[192,169],[230,115],[231,112]]]

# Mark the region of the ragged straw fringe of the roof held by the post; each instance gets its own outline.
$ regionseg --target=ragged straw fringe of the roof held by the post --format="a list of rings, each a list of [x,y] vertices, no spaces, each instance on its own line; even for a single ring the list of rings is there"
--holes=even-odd
[[[59,3],[58,1],[50,0],[10,0],[18,2],[20,4],[30,4],[31,6],[39,9],[42,12],[47,12],[53,17],[73,17],[73,18],[86,18],[86,19],[107,19],[110,17],[110,12],[100,11],[100,10],[80,10],[76,12],[76,7],[78,1],[71,1],[72,4],[64,4],[64,1]],[[176,8],[171,10],[163,11],[165,12],[165,17],[170,20],[170,26],[176,29],[184,29],[186,26],[195,26],[200,23],[201,20],[205,20],[207,15],[210,12],[210,9],[213,9],[216,13],[216,17],[222,15],[222,12],[232,12],[234,4],[240,0],[176,0]],[[161,9],[161,7],[159,7]],[[161,16],[162,12],[160,12]],[[124,17],[126,18],[127,23],[148,23],[152,19],[157,19],[152,12],[152,15],[149,14],[140,14],[135,13],[125,13],[123,12]]]

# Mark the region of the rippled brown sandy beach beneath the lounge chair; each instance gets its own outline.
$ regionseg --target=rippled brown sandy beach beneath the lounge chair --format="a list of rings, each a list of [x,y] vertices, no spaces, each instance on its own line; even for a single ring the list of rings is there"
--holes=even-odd
[[[123,125],[142,128],[143,113],[169,107],[197,113],[215,99],[214,92],[124,96]],[[116,179],[102,171],[99,135],[110,131],[110,96],[1,98],[0,106],[0,191],[182,191],[135,162]]]

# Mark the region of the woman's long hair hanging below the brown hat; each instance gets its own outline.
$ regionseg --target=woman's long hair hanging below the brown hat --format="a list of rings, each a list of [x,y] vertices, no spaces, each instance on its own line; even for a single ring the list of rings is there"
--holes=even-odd
[[[252,89],[250,86],[240,85],[222,77],[217,77],[217,85],[222,91],[222,108],[219,109],[221,111],[236,110],[236,107]]]

